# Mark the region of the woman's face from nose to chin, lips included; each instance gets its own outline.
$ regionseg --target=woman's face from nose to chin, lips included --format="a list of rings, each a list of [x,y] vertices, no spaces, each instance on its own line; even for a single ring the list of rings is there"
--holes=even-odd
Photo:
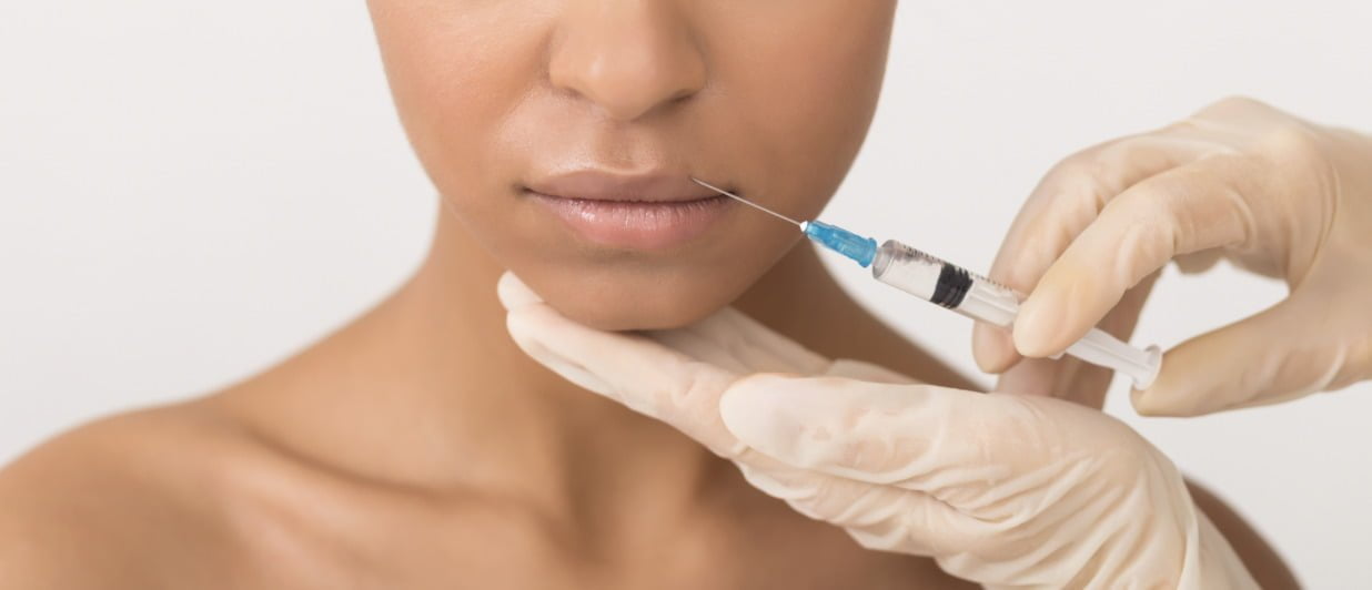
[[[370,0],[451,211],[556,309],[671,328],[800,239],[858,154],[896,0]]]

